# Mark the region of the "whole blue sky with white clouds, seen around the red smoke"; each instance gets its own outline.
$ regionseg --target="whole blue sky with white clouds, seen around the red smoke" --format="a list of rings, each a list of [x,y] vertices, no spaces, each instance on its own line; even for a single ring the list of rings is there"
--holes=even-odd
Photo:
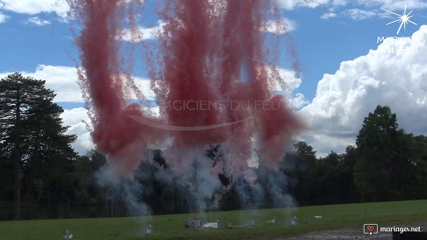
[[[156,41],[152,31],[163,24],[151,10],[154,1],[147,0],[141,12],[144,21],[138,22],[152,41]],[[427,134],[427,1],[277,2],[301,67],[297,74],[286,59],[278,65],[289,88],[283,94],[308,126],[295,140],[307,141],[317,156],[344,152],[355,144],[364,117],[378,104],[390,106],[406,132]],[[387,23],[398,20],[391,12],[401,15],[405,5],[412,23],[397,33],[400,22]],[[0,78],[18,71],[46,80],[46,87],[57,93],[55,102],[64,108],[68,133],[78,135],[73,147],[85,154],[94,144],[76,82],[78,51],[68,10],[65,0],[57,5],[55,0],[0,0]],[[266,30],[284,34],[274,27]],[[126,32],[122,40],[131,41]],[[145,95],[155,98],[146,72],[133,73]]]

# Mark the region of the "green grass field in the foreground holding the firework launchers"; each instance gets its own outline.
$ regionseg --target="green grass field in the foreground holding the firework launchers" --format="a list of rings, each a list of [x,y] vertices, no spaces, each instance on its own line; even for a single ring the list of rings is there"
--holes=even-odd
[[[289,226],[290,218],[298,217],[298,226]],[[314,216],[322,216],[315,218]],[[266,220],[277,217],[276,223]],[[204,222],[220,220],[220,228],[196,231],[184,227],[185,218],[202,218]],[[243,225],[253,218],[255,227],[226,229]],[[145,227],[152,222],[153,234],[145,236]],[[66,229],[78,240],[122,239],[280,239],[281,237],[325,229],[360,229],[364,223],[379,226],[412,226],[427,222],[427,200],[375,202],[359,204],[306,206],[260,210],[239,210],[196,214],[156,215],[146,217],[84,218],[0,221],[0,239],[60,240]],[[415,226],[415,225],[413,225]],[[417,225],[416,225],[417,226]],[[426,231],[427,229],[422,229]]]

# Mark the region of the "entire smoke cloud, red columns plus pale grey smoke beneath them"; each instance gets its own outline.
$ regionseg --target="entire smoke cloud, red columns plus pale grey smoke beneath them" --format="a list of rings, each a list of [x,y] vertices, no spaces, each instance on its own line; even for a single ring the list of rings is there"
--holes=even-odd
[[[280,42],[288,44],[290,65],[298,68],[292,39],[262,30],[273,20],[278,32],[287,32],[273,0],[163,0],[158,15],[164,24],[155,43],[144,41],[138,31],[135,19],[143,1],[68,3],[70,16],[83,26],[75,43],[79,83],[90,102],[91,135],[114,169],[104,177],[112,182],[120,176],[132,179],[144,151],[168,143],[172,147],[163,154],[173,172],[169,181],[179,178],[190,185],[206,208],[206,199],[219,199],[217,193],[230,188],[219,175],[229,177],[230,184],[243,177],[253,186],[257,176],[248,160],[278,169],[302,124],[284,96],[271,93],[273,85],[285,81],[274,67]],[[130,48],[117,39],[124,22],[131,28],[127,34],[136,39]],[[132,79],[137,47],[143,49],[138,57],[152,81],[160,116],[127,103],[131,92],[147,101]],[[206,156],[212,144],[221,144],[214,160]],[[273,185],[267,190],[275,191]]]

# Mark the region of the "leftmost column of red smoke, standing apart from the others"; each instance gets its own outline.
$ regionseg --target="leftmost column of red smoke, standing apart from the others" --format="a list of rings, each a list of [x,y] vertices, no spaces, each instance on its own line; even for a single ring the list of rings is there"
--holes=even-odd
[[[84,29],[77,39],[86,78],[84,90],[92,103],[92,138],[100,152],[107,154],[127,177],[138,167],[147,142],[164,138],[162,132],[137,124],[128,115],[145,117],[141,107],[126,105],[123,92],[126,74],[115,39],[121,30],[126,4],[124,0],[77,0],[69,2],[82,19]],[[148,118],[151,121],[157,119]]]

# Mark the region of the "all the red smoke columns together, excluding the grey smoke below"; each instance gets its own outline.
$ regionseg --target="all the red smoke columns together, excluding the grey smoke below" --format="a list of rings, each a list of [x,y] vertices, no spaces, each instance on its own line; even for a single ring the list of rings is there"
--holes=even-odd
[[[253,181],[247,160],[253,153],[252,137],[256,135],[255,150],[265,164],[276,169],[289,138],[301,125],[283,96],[270,94],[269,72],[277,73],[277,69],[261,63],[268,62],[269,52],[264,49],[267,33],[260,29],[268,21],[273,4],[269,0],[164,0],[163,3],[159,15],[166,25],[159,39],[160,55],[150,58],[154,60],[148,59],[149,54],[144,56],[155,86],[160,118],[144,113],[137,104],[125,103],[125,80],[120,76],[130,74],[130,70],[123,69],[124,62],[118,60],[120,45],[115,36],[123,30],[121,23],[128,3],[125,0],[70,3],[84,25],[77,45],[86,74],[83,85],[93,103],[92,137],[98,150],[130,177],[147,144],[170,137],[174,148],[167,160],[185,174],[192,164],[193,149],[222,143],[227,152],[226,161],[212,168],[212,175],[225,171],[234,176],[244,174]],[[208,108],[200,102],[221,103],[223,107]],[[236,102],[241,105],[233,106]],[[183,127],[211,126],[259,116],[253,121],[212,129],[167,132],[134,121],[128,115]]]

